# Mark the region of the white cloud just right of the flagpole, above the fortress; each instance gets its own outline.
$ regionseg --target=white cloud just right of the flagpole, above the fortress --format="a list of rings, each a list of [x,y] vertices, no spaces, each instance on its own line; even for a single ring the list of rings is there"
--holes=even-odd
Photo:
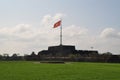
[[[64,44],[79,45],[82,38],[86,38],[88,35],[88,29],[80,26],[67,26],[63,28],[63,42]]]

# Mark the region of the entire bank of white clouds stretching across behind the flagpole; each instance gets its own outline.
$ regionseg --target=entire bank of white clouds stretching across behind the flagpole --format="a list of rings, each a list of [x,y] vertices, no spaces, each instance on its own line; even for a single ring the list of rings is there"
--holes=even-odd
[[[0,53],[15,52],[30,54],[47,49],[48,46],[59,45],[59,28],[53,24],[64,14],[46,15],[40,27],[30,24],[18,24],[15,27],[0,27]],[[77,49],[94,47],[100,52],[119,53],[120,32],[114,28],[105,28],[99,35],[89,33],[87,28],[70,25],[63,27],[63,44],[75,45]]]

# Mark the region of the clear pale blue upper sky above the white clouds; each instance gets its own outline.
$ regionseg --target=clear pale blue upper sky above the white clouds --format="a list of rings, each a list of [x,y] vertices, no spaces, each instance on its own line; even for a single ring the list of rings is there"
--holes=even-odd
[[[64,24],[119,26],[119,0],[1,0],[1,24],[35,23],[46,14],[67,14]]]

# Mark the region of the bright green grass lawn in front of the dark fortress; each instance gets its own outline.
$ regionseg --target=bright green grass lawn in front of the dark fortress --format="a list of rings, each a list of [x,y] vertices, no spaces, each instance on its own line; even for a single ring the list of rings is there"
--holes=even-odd
[[[120,64],[1,61],[0,80],[120,80]]]

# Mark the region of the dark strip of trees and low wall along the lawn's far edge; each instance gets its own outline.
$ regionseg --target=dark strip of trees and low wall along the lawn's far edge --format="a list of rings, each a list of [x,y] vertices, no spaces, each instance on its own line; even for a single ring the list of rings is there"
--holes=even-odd
[[[51,57],[51,56],[41,56],[32,52],[30,55],[20,56],[14,53],[12,56],[9,54],[0,55],[1,61],[51,61],[51,60],[62,60],[62,61],[75,61],[75,62],[113,62],[120,63],[120,55],[113,55],[110,52],[94,55],[80,55],[80,54],[70,54],[67,57]]]

